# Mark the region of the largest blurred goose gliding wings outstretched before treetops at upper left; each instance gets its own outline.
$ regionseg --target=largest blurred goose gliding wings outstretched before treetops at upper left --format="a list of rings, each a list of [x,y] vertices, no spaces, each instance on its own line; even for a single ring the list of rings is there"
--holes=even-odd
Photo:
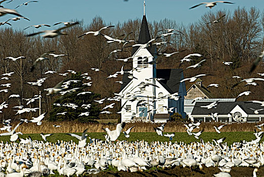
[[[61,30],[65,29],[65,28],[68,28],[68,27],[71,27],[71,26],[74,26],[74,25],[77,25],[77,24],[80,24],[80,23],[79,22],[75,22],[75,23],[72,23],[70,25],[58,28],[58,29],[39,31],[39,32],[35,32],[35,33],[32,33],[32,34],[28,34],[26,36],[33,36],[33,35],[40,34],[40,33],[44,33],[41,36],[45,37],[45,38],[46,37],[53,38],[53,37],[56,37],[56,36],[59,36],[59,35],[67,35],[67,33],[65,31],[61,32]]]

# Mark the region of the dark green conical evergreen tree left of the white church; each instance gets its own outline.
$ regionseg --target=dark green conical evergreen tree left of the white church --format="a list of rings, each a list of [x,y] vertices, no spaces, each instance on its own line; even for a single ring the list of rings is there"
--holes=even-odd
[[[94,100],[100,98],[100,94],[95,94],[93,92],[87,94],[79,94],[82,92],[90,92],[83,84],[83,77],[81,73],[72,74],[70,79],[66,79],[70,84],[66,90],[71,90],[74,88],[79,88],[75,92],[66,93],[65,95],[58,95],[55,103],[52,105],[52,111],[50,112],[51,121],[79,121],[79,122],[96,122],[95,119],[99,118],[100,107]],[[65,80],[65,81],[66,81]],[[73,81],[74,80],[74,81]],[[65,90],[65,91],[66,91]],[[79,95],[78,95],[79,94]],[[91,106],[85,109],[85,106]],[[68,105],[68,106],[66,106]],[[75,107],[70,107],[74,105]],[[65,115],[58,113],[65,113]],[[89,112],[88,116],[82,115],[81,113]]]

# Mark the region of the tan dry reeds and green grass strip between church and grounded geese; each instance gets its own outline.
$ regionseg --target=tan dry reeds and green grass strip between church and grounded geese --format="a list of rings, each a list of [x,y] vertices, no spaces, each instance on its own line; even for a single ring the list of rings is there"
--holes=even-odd
[[[53,125],[62,125],[61,127],[55,128]],[[259,124],[259,123],[258,123]],[[13,123],[15,126],[16,123]],[[160,141],[160,142],[168,142],[169,139],[167,137],[161,137],[156,134],[153,127],[159,126],[159,124],[154,123],[127,123],[123,130],[128,129],[129,127],[136,125],[130,132],[129,139],[125,138],[123,134],[120,135],[118,140],[127,140],[127,141]],[[199,129],[195,129],[195,131],[199,131],[204,129],[204,132],[200,136],[205,142],[211,142],[212,139],[220,139],[226,137],[226,141],[228,145],[232,144],[233,142],[240,142],[240,140],[251,141],[255,139],[253,135],[253,131],[255,129],[255,123],[234,123],[228,124],[227,126],[221,129],[221,134],[218,134],[213,126],[219,126],[220,123],[202,123]],[[78,123],[78,122],[42,122],[40,126],[37,126],[33,123],[23,123],[21,126],[18,127],[17,131],[21,131],[24,135],[19,135],[20,138],[25,139],[28,136],[31,137],[32,140],[42,141],[40,137],[40,133],[43,134],[50,134],[53,133],[54,135],[47,138],[48,142],[55,143],[59,141],[74,141],[78,143],[78,140],[74,137],[66,135],[67,132],[72,132],[77,135],[81,135],[81,132],[88,128],[87,136],[91,139],[101,139],[105,140],[104,135],[106,132],[103,128],[109,127],[109,129],[115,129],[116,124],[114,123]],[[199,141],[194,138],[194,136],[189,136],[186,132],[186,127],[183,123],[176,123],[176,122],[168,122],[165,125],[163,134],[175,132],[175,136],[173,137],[172,142],[185,142],[191,143],[195,141]],[[5,132],[5,131],[1,131]],[[10,136],[0,137],[0,141],[3,142],[10,142]],[[89,140],[87,140],[89,142]],[[260,141],[262,142],[262,140]]]

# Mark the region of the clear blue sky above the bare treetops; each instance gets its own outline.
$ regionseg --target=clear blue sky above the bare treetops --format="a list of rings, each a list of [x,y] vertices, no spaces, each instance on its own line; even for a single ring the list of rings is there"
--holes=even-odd
[[[9,4],[4,2],[2,5],[5,8],[14,9],[27,1],[29,0],[13,0]],[[226,9],[232,12],[237,7],[247,9],[258,7],[260,11],[264,9],[263,0],[230,0],[229,2],[235,4],[219,3],[212,9],[199,6],[189,10],[190,7],[201,2],[210,2],[210,0],[146,0],[146,16],[148,21],[160,21],[167,18],[188,25],[198,21],[208,11]],[[89,24],[96,16],[101,16],[107,24],[111,22],[115,25],[118,21],[122,23],[128,19],[141,19],[143,16],[143,0],[128,0],[127,2],[123,0],[38,0],[38,3],[29,3],[27,6],[20,6],[16,10],[24,17],[29,18],[30,21],[23,19],[11,21],[14,29],[23,29],[30,25],[42,23],[53,25],[56,22],[70,21],[71,19],[83,20],[85,24]],[[5,15],[0,17],[0,22],[13,17],[15,16]],[[0,28],[5,26],[0,26]],[[30,29],[27,31],[30,31]]]

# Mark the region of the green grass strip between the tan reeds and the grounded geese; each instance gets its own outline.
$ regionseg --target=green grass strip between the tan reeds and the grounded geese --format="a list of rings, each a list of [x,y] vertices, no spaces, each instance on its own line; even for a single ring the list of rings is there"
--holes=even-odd
[[[166,133],[167,132],[164,132],[163,134],[166,134]],[[171,132],[168,132],[168,133],[170,134]],[[77,133],[77,135],[81,135],[81,133]],[[106,133],[103,133],[103,132],[88,132],[87,133],[87,136],[91,137],[91,139],[95,138],[95,139],[105,140],[104,135],[106,135]],[[127,141],[144,140],[149,143],[152,141],[160,141],[160,142],[169,141],[167,137],[158,136],[156,132],[130,132],[129,135],[130,137],[127,139],[124,137],[123,134],[121,134],[118,140],[120,141],[122,140],[127,140]],[[22,139],[25,139],[25,138],[28,138],[28,136],[30,136],[32,140],[42,141],[39,134],[24,134],[19,137]],[[212,139],[218,140],[223,137],[227,138],[225,142],[227,142],[228,145],[233,144],[233,142],[240,142],[240,140],[245,140],[245,141],[255,140],[255,136],[253,135],[253,132],[221,132],[221,134],[218,134],[217,132],[203,132],[200,136],[200,138],[202,138],[205,142],[207,141],[211,142]],[[0,137],[0,141],[3,141],[3,142],[10,142],[9,139],[10,139],[10,136]],[[78,143],[78,140],[76,138],[71,137],[66,134],[54,134],[47,138],[47,141],[52,142],[52,143],[55,143],[58,140],[60,141],[62,140],[66,142],[69,142],[72,140],[73,142]],[[194,136],[189,136],[187,132],[175,132],[175,136],[173,137],[172,143],[185,142],[189,144],[195,141],[200,142],[200,140],[195,139]],[[262,141],[263,140],[261,140],[260,143]]]

